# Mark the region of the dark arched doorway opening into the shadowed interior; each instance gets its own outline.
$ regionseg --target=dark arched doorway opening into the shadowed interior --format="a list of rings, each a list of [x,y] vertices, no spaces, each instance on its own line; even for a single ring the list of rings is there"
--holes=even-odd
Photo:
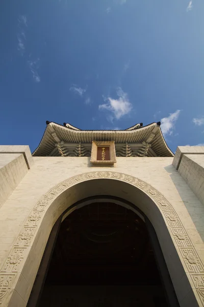
[[[168,306],[143,219],[112,202],[69,214],[39,306]]]

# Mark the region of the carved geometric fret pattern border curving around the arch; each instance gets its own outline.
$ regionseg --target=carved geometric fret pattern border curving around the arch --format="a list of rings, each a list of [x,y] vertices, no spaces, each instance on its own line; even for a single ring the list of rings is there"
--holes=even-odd
[[[0,273],[0,306],[6,307],[7,305],[6,299],[15,281],[15,276],[19,268],[23,265],[23,257],[26,254],[26,249],[30,246],[37,227],[40,225],[42,217],[49,205],[67,188],[79,182],[100,178],[115,179],[130,183],[144,191],[156,203],[162,212],[166,224],[170,228],[171,234],[174,237],[175,246],[180,250],[186,269],[191,276],[192,283],[204,306],[204,266],[171,204],[164,195],[148,183],[133,176],[113,171],[93,171],[73,176],[59,183],[40,198],[27,218],[27,221],[25,221]]]

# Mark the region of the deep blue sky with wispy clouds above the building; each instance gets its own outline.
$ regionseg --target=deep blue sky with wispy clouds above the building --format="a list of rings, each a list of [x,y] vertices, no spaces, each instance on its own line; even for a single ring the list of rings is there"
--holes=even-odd
[[[203,0],[2,0],[1,144],[33,151],[45,121],[81,129],[162,122],[204,143]]]

